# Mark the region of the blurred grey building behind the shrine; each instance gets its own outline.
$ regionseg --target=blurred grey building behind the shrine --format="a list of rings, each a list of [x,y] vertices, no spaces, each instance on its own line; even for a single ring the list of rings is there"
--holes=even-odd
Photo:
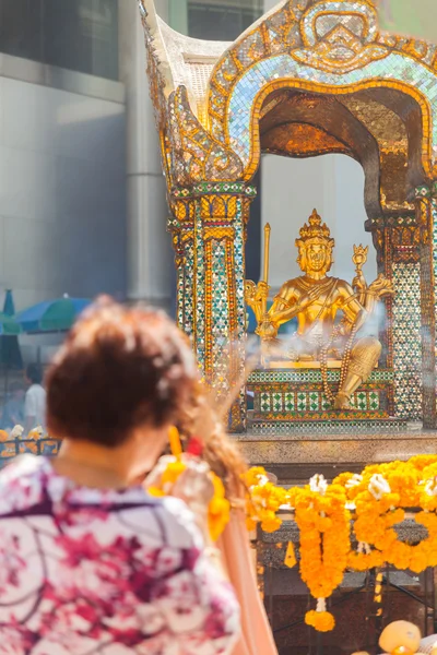
[[[233,41],[276,2],[155,4],[178,32]],[[13,289],[17,310],[66,293],[109,293],[172,311],[168,210],[137,1],[0,0],[0,291]],[[314,206],[334,236],[347,233],[347,260],[354,238],[369,242],[364,228],[343,229],[351,212],[355,226],[366,218],[356,162],[264,155],[258,183],[249,277],[259,277],[265,221],[272,284],[297,272],[294,239]]]

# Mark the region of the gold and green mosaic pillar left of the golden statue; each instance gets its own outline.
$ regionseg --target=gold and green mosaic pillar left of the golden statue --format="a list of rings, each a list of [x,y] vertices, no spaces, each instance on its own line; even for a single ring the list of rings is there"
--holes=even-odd
[[[202,377],[218,401],[244,370],[245,233],[255,195],[255,188],[243,182],[201,182],[172,191],[178,323],[192,337]],[[245,428],[241,393],[229,429]]]

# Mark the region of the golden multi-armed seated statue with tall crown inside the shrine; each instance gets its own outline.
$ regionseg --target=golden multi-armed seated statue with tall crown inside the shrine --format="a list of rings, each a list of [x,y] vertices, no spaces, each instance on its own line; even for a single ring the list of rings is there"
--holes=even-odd
[[[367,261],[368,249],[363,246],[354,246],[356,276],[353,288],[343,279],[329,277],[327,273],[333,263],[335,242],[315,210],[309,225],[304,225],[300,238],[296,239],[297,262],[304,275],[283,284],[268,311],[269,242],[270,226],[267,225],[264,279],[258,285],[246,282],[246,301],[255,312],[256,332],[261,337],[264,357],[271,359],[279,352],[279,327],[297,318],[297,331],[287,342],[286,359],[300,367],[320,367],[327,397],[336,409],[346,409],[352,394],[367,380],[381,355],[381,344],[376,337],[359,337],[357,332],[374,313],[379,298],[393,293],[392,283],[378,275],[367,285],[362,267]],[[340,322],[336,320],[339,312],[343,314]],[[327,379],[327,369],[335,360],[341,360],[336,395]]]

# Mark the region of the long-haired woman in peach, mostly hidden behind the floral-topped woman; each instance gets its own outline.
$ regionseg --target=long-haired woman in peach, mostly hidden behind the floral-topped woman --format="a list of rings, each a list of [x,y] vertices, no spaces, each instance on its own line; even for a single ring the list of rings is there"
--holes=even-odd
[[[240,604],[241,636],[232,655],[277,655],[258,591],[255,558],[246,528],[246,488],[241,483],[241,475],[247,471],[247,465],[237,444],[223,428],[223,417],[227,414],[231,400],[226,398],[220,406],[204,386],[196,385],[191,401],[185,405],[178,428],[187,443],[186,450],[198,455],[218,476],[231,502],[231,520],[214,550]],[[188,489],[190,486],[191,492]],[[198,502],[201,488],[193,491],[187,477],[186,484],[181,479],[175,492],[197,516],[202,516],[202,508],[199,508]],[[206,525],[204,517],[201,519],[201,524]],[[210,539],[205,533],[204,538]]]

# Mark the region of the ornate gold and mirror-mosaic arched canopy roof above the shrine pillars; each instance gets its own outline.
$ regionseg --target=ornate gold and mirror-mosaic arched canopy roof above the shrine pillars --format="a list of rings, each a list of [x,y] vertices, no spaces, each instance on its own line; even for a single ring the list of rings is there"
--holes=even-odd
[[[262,152],[341,152],[366,171],[370,215],[395,155],[381,196],[410,210],[387,193],[437,178],[437,46],[381,31],[381,2],[282,0],[224,43],[178,34],[140,0],[169,182],[248,181]]]

